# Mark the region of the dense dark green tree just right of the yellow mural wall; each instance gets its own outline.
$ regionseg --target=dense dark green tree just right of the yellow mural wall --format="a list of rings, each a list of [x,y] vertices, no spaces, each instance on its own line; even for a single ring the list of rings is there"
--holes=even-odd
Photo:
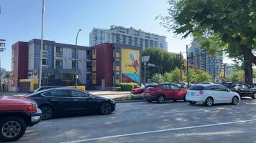
[[[165,72],[173,71],[176,67],[180,67],[183,64],[183,57],[180,54],[169,53],[159,48],[148,48],[142,51],[142,56],[150,56],[150,64],[155,64],[159,67],[148,67],[147,68],[147,79],[152,79],[153,75],[160,71],[160,74],[165,74]],[[160,69],[158,69],[160,68]],[[142,67],[144,72],[144,68]]]

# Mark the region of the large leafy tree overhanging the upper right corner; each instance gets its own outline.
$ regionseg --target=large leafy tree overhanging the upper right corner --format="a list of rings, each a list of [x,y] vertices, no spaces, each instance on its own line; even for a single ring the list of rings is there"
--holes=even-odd
[[[165,28],[183,38],[203,39],[201,46],[224,49],[243,61],[244,77],[252,85],[252,63],[256,64],[256,1],[169,0],[168,16],[160,16]]]

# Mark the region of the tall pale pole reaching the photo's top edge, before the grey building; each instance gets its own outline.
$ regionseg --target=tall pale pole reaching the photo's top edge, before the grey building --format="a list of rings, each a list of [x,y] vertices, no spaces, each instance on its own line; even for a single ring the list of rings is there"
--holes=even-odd
[[[42,46],[43,46],[43,30],[44,30],[44,13],[45,13],[45,0],[42,0],[42,29],[41,29],[41,49],[40,49],[40,66],[39,66],[39,83],[38,87],[42,86]]]

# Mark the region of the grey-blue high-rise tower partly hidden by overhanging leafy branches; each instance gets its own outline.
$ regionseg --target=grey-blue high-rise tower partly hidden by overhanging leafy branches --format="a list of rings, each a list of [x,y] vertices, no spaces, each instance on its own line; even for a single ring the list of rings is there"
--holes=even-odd
[[[215,56],[211,56],[198,42],[199,40],[194,40],[188,48],[188,63],[208,71],[212,77],[218,77],[223,69],[223,52],[219,51]]]

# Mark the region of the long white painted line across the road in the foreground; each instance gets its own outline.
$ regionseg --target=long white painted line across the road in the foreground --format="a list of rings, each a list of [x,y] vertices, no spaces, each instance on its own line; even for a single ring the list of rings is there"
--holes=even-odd
[[[178,128],[170,128],[170,129],[160,129],[160,130],[153,130],[148,132],[135,132],[131,134],[118,134],[113,136],[106,136],[106,137],[97,137],[92,139],[81,139],[76,141],[70,141],[70,142],[61,142],[61,143],[78,143],[78,142],[89,142],[89,141],[95,141],[100,139],[111,139],[111,138],[117,138],[117,137],[129,137],[134,135],[140,135],[140,134],[152,134],[152,133],[158,133],[158,132],[168,132],[168,131],[175,131],[175,130],[182,130],[182,129],[195,129],[195,128],[201,128],[201,127],[214,127],[214,126],[220,126],[220,125],[226,125],[226,124],[237,124],[242,122],[254,122],[256,119],[248,119],[248,120],[240,120],[235,122],[221,122],[216,124],[203,124],[198,126],[191,126],[191,127],[178,127]]]

